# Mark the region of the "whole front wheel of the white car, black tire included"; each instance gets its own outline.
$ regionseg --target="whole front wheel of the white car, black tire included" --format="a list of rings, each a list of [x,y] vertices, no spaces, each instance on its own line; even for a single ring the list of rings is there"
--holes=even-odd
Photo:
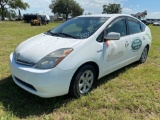
[[[95,69],[91,65],[85,65],[74,75],[69,93],[76,98],[87,94],[93,86],[96,79]]]

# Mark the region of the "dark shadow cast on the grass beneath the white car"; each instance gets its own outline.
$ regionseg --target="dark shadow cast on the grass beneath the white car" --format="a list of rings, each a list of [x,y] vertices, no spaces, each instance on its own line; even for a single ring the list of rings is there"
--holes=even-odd
[[[96,89],[98,86],[118,77],[119,74],[125,72],[127,69],[136,67],[137,65],[138,63],[133,63],[101,78],[96,82],[93,89]],[[0,103],[2,103],[2,109],[20,119],[25,119],[29,116],[50,114],[61,106],[64,107],[67,103],[75,100],[74,97],[69,95],[46,99],[40,98],[18,87],[13,82],[11,76],[0,80]]]

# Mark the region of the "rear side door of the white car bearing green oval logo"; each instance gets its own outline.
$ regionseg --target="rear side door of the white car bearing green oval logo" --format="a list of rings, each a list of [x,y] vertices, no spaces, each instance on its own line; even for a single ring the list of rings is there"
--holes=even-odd
[[[134,62],[140,58],[144,48],[143,41],[145,33],[141,29],[140,22],[132,17],[127,17],[128,34],[129,34],[129,54],[128,62]]]

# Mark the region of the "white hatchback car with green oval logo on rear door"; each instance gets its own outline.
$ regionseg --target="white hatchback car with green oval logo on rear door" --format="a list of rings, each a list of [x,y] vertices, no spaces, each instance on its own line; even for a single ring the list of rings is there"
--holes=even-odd
[[[48,98],[88,93],[93,83],[130,63],[144,63],[150,29],[124,14],[79,16],[21,43],[10,55],[14,82]]]

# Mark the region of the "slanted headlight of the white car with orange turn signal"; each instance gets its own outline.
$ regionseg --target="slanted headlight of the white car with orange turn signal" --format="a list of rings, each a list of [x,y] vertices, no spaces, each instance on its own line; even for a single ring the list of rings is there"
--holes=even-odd
[[[56,67],[68,54],[73,51],[72,48],[62,48],[56,50],[49,55],[42,58],[36,65],[35,68],[40,69],[51,69]]]

